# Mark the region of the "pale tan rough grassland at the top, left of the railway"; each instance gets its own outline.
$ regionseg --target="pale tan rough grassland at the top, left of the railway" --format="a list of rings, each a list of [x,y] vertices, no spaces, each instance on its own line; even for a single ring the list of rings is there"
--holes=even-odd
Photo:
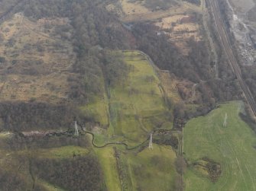
[[[196,2],[196,1],[195,1]],[[119,0],[107,5],[109,11],[118,14],[125,24],[136,22],[151,22],[159,28],[159,33],[165,33],[170,41],[175,43],[180,51],[187,55],[190,46],[186,39],[190,37],[202,40],[200,33],[199,14],[203,13],[201,6],[184,1],[129,1]]]

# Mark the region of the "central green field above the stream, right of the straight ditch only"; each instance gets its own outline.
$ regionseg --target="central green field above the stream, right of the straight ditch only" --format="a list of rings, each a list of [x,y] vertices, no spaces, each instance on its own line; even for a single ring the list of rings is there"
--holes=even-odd
[[[146,118],[163,114],[164,100],[154,68],[137,51],[123,53],[132,69],[125,85],[110,89],[110,116],[115,135],[131,142],[141,142],[155,128]],[[154,78],[148,81],[147,78]],[[131,93],[132,92],[132,93]],[[163,115],[159,120],[164,120]]]

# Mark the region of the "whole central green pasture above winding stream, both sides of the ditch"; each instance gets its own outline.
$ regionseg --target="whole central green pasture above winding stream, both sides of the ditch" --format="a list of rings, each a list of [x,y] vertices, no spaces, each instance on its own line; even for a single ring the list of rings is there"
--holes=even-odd
[[[118,53],[131,68],[125,84],[109,87],[110,98],[104,93],[80,109],[101,127],[109,125],[107,131],[94,132],[96,144],[102,145],[109,139],[134,146],[144,142],[153,129],[171,129],[172,120],[167,115],[161,82],[147,58],[138,51]],[[102,79],[102,87],[103,84]]]

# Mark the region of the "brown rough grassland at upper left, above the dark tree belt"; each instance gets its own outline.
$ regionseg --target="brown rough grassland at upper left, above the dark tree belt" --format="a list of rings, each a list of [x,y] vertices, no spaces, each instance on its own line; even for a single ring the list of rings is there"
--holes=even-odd
[[[54,27],[68,22],[66,18],[34,22],[15,14],[0,26],[4,37],[0,56],[6,60],[0,65],[1,100],[66,99],[75,53],[71,42],[55,36]],[[49,30],[46,24],[53,27]]]

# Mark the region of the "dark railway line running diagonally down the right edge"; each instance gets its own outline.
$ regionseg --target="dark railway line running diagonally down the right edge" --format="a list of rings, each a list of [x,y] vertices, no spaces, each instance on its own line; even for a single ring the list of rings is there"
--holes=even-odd
[[[207,0],[207,2],[210,10],[212,11],[212,16],[215,22],[216,29],[218,30],[219,38],[221,40],[223,49],[226,56],[228,57],[228,63],[231,66],[233,72],[235,73],[236,78],[238,79],[241,90],[244,92],[246,100],[248,101],[251,110],[254,113],[254,116],[256,116],[256,103],[254,97],[252,96],[251,91],[249,90],[247,84],[245,84],[245,81],[242,78],[241,68],[232,51],[232,46],[225,30],[222,18],[220,18],[219,16],[221,15],[221,11],[219,9],[219,2],[217,0]]]

